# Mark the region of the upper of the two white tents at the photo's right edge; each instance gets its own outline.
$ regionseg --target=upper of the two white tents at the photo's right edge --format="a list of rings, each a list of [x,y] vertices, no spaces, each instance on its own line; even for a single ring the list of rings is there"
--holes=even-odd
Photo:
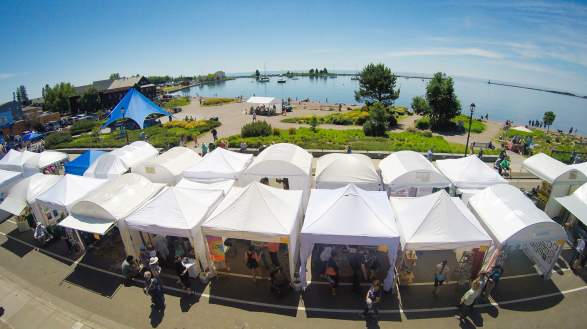
[[[571,194],[576,188],[587,182],[587,176],[580,170],[566,165],[544,153],[538,153],[524,160],[522,168],[540,178],[550,186],[541,187],[545,190],[544,212],[550,217],[558,216],[562,210],[555,200]],[[550,191],[548,193],[548,191]],[[539,195],[541,195],[539,193]]]

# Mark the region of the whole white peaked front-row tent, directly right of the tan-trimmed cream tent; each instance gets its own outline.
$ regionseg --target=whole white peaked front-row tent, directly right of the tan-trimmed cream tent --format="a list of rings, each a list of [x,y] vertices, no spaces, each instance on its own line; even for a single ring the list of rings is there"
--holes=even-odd
[[[390,269],[384,289],[393,285],[399,233],[383,191],[366,191],[355,185],[312,190],[300,233],[300,279],[306,284],[306,264],[316,243],[388,247]]]

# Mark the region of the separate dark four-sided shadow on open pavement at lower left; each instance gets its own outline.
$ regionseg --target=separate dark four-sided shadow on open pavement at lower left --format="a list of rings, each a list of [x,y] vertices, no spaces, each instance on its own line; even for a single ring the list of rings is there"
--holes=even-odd
[[[77,266],[64,281],[108,298],[111,298],[122,284],[119,277],[84,266]]]

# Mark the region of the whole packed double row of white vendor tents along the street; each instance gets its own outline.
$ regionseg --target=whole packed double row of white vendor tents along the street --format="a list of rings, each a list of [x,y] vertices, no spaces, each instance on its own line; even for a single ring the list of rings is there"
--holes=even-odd
[[[402,151],[377,170],[363,155],[329,154],[318,160],[317,189],[311,190],[312,156],[295,145],[272,145],[253,159],[221,148],[203,158],[184,148],[157,155],[147,143],[133,144],[109,153],[115,159],[100,156],[84,177],[28,177],[0,208],[20,214],[29,205],[39,221],[47,220],[44,208],[58,208],[65,216],[59,225],[95,234],[117,225],[133,255],[141,243],[137,232],[185,237],[205,266],[205,236],[287,243],[290,273],[297,272],[299,259],[302,282],[316,243],[386,245],[391,264],[400,248],[514,246],[548,275],[566,239],[560,225],[475,156],[440,160],[435,167],[418,153]],[[103,158],[132,173],[96,165]],[[91,177],[103,173],[110,179]],[[290,190],[260,184],[263,178],[287,178]],[[450,197],[443,190],[448,186],[476,193],[466,203]],[[419,197],[394,196],[410,189]],[[20,201],[18,207],[11,199]],[[539,242],[554,248],[556,257],[533,252]],[[391,268],[387,288],[393,275]]]

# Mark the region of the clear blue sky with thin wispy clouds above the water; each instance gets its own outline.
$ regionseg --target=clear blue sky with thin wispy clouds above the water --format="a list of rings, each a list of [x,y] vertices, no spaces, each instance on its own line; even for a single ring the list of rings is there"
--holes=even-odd
[[[0,101],[60,81],[383,62],[587,95],[587,3],[7,1]]]

